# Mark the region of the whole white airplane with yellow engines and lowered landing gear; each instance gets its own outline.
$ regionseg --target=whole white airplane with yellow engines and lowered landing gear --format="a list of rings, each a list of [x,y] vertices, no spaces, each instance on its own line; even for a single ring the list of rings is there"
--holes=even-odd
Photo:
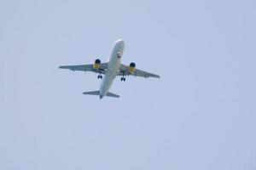
[[[101,63],[100,59],[96,59],[94,64],[90,65],[61,65],[59,68],[69,69],[71,71],[92,71],[98,74],[98,79],[102,79],[102,75],[105,75],[102,80],[100,90],[83,93],[98,95],[100,99],[102,99],[104,96],[119,98],[119,95],[108,92],[113,84],[113,80],[117,76],[120,76],[120,80],[124,82],[126,76],[160,78],[158,75],[149,73],[147,71],[138,70],[134,62],[131,62],[129,66],[121,64],[121,58],[124,53],[124,49],[125,42],[124,40],[119,39],[113,43],[112,53],[110,54],[108,62]]]

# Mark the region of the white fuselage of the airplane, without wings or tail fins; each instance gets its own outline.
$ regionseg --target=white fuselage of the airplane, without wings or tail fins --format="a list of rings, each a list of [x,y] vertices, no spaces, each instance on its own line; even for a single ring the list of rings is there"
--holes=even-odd
[[[117,40],[113,44],[113,49],[108,61],[108,71],[105,77],[103,77],[100,88],[100,99],[104,97],[108,90],[111,88],[114,78],[119,73],[119,66],[121,63],[122,54],[125,49],[125,42],[123,40]]]

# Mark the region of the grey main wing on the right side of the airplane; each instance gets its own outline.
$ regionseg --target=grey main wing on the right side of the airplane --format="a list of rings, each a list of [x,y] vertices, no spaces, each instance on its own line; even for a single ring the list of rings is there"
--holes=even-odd
[[[129,71],[129,66],[127,65],[120,65],[120,68],[119,68],[119,76],[135,76],[135,77],[145,77],[145,78],[148,78],[148,77],[155,77],[155,78],[160,78],[160,76],[158,75],[155,75],[153,73],[150,73],[150,72],[147,72],[147,71],[141,71],[139,69],[136,69],[134,72],[130,72]]]

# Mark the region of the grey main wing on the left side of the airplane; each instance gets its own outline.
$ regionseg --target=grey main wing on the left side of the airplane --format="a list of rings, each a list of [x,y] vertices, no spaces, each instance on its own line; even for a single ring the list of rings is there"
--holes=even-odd
[[[69,69],[70,71],[92,71],[105,74],[108,69],[108,63],[102,63],[100,68],[95,69],[93,65],[61,65],[60,69]]]

